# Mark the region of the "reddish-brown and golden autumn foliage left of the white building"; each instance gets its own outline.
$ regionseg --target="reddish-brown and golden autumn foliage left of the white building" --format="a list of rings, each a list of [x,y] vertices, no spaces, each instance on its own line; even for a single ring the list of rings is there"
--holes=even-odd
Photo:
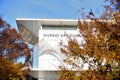
[[[21,57],[30,56],[30,49],[23,42],[22,37],[15,29],[0,18],[0,80],[18,79],[24,76],[28,70],[27,61],[17,63]]]

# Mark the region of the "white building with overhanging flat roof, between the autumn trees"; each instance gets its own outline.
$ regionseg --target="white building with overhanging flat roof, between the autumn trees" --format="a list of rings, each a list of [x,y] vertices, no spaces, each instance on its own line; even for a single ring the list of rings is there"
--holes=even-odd
[[[24,40],[38,48],[29,75],[35,80],[57,80],[59,66],[65,56],[60,52],[60,42],[67,44],[67,37],[80,38],[77,19],[16,19],[18,29]],[[69,67],[69,66],[68,66]]]

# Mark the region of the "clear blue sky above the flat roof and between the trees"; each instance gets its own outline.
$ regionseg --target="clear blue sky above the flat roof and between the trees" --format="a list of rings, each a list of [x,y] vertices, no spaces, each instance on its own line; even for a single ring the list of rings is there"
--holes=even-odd
[[[12,27],[16,18],[81,18],[80,14],[93,9],[103,11],[103,0],[0,0],[0,16]],[[81,8],[84,8],[81,11]]]

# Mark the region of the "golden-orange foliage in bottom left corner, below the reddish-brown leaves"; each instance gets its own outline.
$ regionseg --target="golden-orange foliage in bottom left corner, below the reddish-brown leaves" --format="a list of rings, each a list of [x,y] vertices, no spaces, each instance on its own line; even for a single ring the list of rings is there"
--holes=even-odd
[[[9,61],[2,56],[0,56],[0,79],[19,79],[22,71],[20,71],[20,66],[18,64],[14,64],[12,61]]]

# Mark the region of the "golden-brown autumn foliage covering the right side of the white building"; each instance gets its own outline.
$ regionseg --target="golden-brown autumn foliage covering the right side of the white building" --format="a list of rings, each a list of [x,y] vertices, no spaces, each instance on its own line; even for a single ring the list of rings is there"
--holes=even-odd
[[[120,79],[120,13],[107,15],[110,20],[91,16],[92,12],[87,16],[91,20],[78,22],[82,44],[71,38],[68,45],[62,44],[61,52],[67,56],[64,62],[72,67],[61,68],[60,80]]]

